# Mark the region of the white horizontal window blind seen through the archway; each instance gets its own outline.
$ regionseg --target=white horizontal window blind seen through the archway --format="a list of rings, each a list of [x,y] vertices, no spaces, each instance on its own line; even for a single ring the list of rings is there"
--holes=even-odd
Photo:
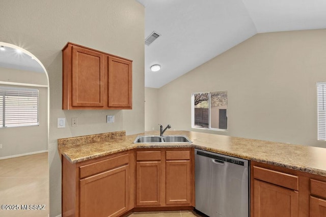
[[[0,87],[0,127],[39,125],[39,90]]]

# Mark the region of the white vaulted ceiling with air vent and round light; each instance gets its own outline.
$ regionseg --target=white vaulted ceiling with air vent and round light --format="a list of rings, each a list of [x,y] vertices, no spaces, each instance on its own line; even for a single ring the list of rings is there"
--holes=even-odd
[[[257,33],[326,28],[326,0],[137,0],[145,6],[145,86],[159,88]],[[161,65],[151,72],[150,66]]]

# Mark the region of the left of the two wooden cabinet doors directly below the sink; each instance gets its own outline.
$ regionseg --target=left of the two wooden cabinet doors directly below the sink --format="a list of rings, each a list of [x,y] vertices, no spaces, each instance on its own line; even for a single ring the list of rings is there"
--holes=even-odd
[[[160,205],[160,162],[137,162],[136,205]]]

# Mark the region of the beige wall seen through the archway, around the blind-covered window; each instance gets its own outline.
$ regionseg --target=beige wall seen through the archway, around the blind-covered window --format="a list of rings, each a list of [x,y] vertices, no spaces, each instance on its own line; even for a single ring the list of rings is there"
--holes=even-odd
[[[44,73],[0,68],[0,81],[47,85]],[[11,86],[0,84],[0,86]],[[35,88],[39,90],[39,126],[3,128],[0,130],[0,144],[3,148],[0,158],[11,157],[48,149],[47,137],[47,88],[18,86]]]

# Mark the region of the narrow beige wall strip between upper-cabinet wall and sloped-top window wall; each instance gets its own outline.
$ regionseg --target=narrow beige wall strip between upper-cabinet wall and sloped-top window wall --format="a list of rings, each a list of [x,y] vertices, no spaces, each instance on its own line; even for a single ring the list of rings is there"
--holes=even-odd
[[[145,87],[145,131],[159,130],[158,89]]]

